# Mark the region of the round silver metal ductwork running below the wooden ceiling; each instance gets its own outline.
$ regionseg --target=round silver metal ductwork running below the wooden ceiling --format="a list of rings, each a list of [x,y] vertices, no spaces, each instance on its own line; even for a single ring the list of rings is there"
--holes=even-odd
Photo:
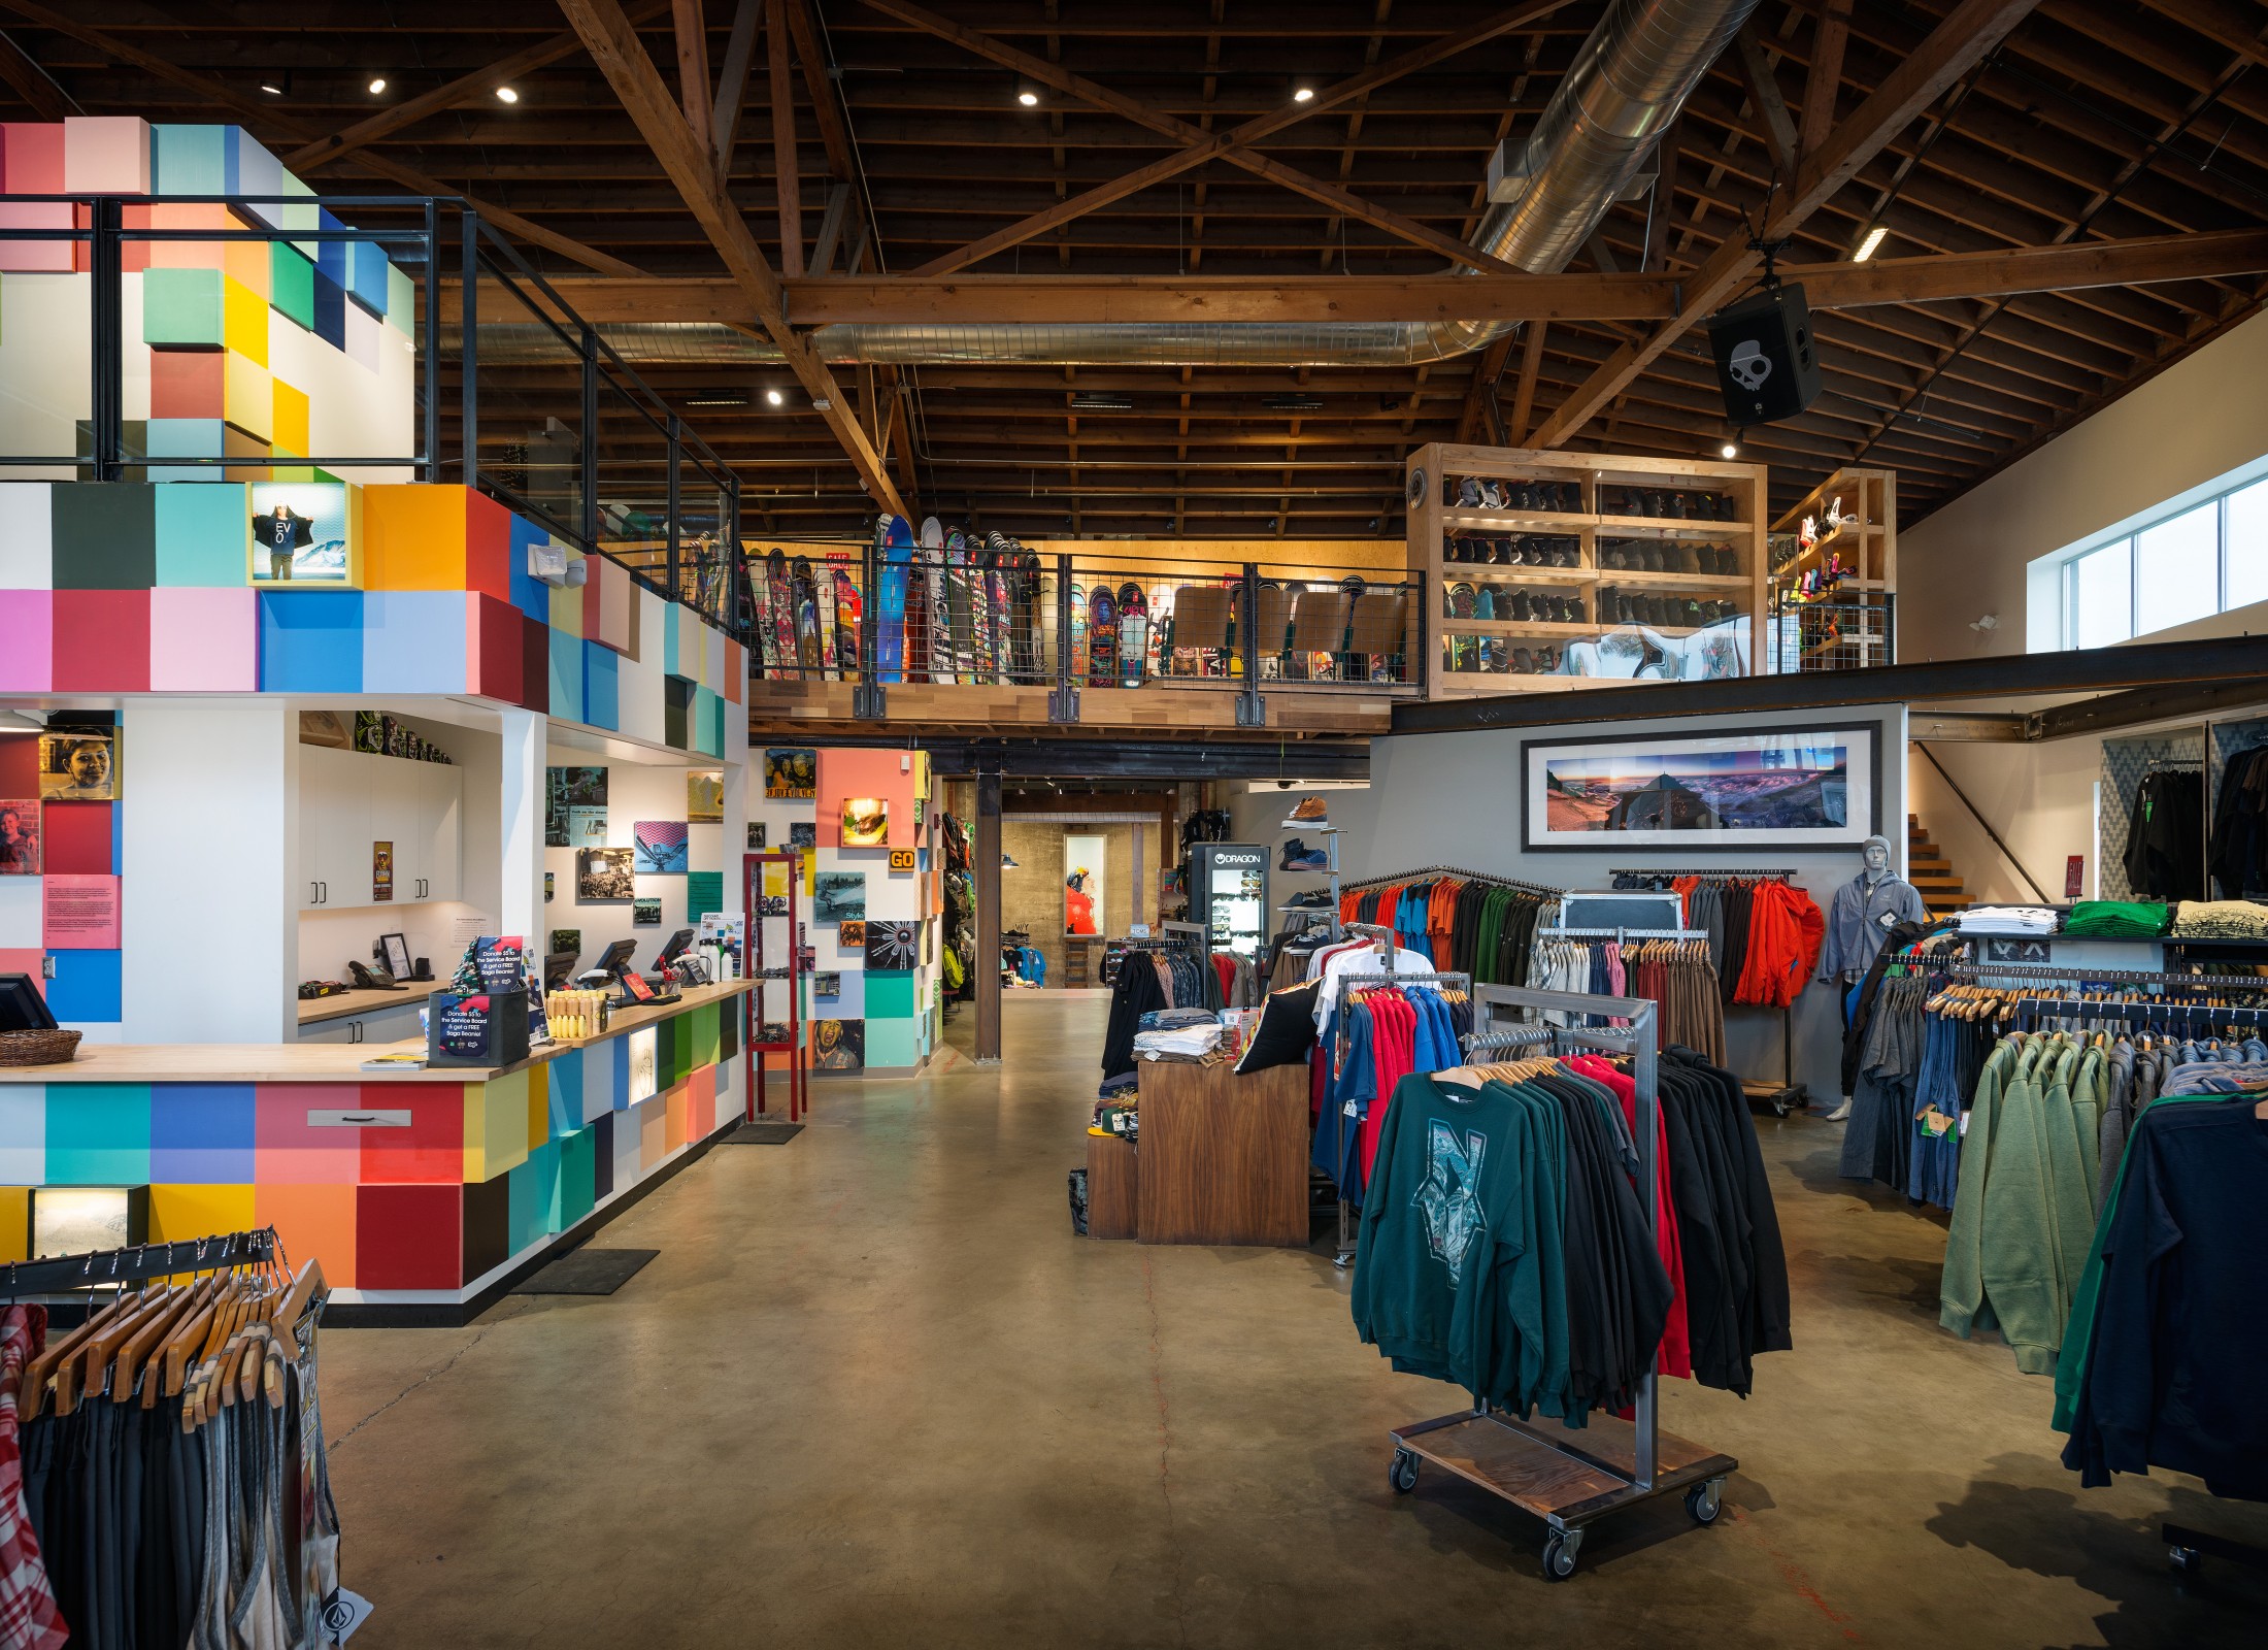
[[[1637,177],[1653,145],[1758,0],[1610,0],[1599,27],[1515,152],[1492,177],[1513,193],[1481,218],[1472,243],[1531,275],[1556,275],[1590,241],[1608,207]],[[1458,268],[1461,275],[1472,270]],[[1513,320],[1411,322],[1084,322],[839,325],[812,334],[830,363],[1032,363],[1256,368],[1404,368],[1481,350],[1515,331]],[[510,361],[513,327],[481,329],[481,359]],[[547,361],[558,343],[528,327],[528,350]],[[762,363],[780,352],[719,325],[640,322],[601,327],[631,363]]]

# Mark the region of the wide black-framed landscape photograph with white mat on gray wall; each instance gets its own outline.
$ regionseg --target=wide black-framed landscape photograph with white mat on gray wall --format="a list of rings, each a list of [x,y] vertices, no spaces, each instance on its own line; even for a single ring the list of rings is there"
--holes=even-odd
[[[1882,828],[1882,724],[1524,740],[1531,849],[1855,849]]]

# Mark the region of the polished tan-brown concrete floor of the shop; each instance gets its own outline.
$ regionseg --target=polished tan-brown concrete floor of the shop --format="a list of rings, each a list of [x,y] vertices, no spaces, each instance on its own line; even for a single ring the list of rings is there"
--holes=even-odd
[[[1458,1398],[1322,1255],[1070,1237],[1102,1017],[1012,996],[1005,1064],[712,1151],[601,1232],[662,1251],[612,1298],[324,1337],[356,1650],[2268,1643],[2268,1577],[2157,1541],[2268,1509],[2082,1493],[2048,1384],[1937,1328],[1941,1228],[1810,1119],[1760,1119],[1796,1350],[1665,1396],[1742,1462],[1724,1518],[1649,1502],[1547,1584],[1520,1514],[1388,1491],[1386,1428]]]

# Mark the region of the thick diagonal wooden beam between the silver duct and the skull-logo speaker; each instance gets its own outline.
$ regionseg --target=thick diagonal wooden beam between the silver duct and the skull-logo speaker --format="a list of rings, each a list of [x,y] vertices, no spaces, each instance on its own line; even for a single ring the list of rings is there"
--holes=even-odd
[[[1803,159],[1787,191],[1771,197],[1760,238],[1769,243],[1789,234],[1826,204],[1857,175],[1857,168],[1998,45],[2032,5],[2034,0],[1962,0],[1953,7],[1930,36],[1882,77],[1873,95],[1828,134],[1819,152]],[[1710,311],[1719,309],[1760,266],[1762,256],[1751,250],[1746,234],[1721,241],[1685,284],[1687,311],[1615,350],[1574,395],[1558,404],[1531,436],[1531,445],[1558,447],[1583,429],[1601,406]]]

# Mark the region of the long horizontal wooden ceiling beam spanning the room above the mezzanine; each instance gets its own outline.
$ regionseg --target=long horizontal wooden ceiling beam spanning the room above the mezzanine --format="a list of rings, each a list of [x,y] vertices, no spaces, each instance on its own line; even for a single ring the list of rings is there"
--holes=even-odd
[[[1869,263],[1792,263],[1812,309],[1926,304],[2089,286],[2268,272],[2268,227],[2193,236],[2080,241],[2012,252],[1953,252]],[[551,281],[590,322],[758,325],[730,277],[583,277]],[[830,322],[1334,322],[1334,320],[1678,320],[1690,279],[1674,275],[953,275],[807,277],[782,284],[796,327]],[[442,320],[456,288],[442,286]]]

